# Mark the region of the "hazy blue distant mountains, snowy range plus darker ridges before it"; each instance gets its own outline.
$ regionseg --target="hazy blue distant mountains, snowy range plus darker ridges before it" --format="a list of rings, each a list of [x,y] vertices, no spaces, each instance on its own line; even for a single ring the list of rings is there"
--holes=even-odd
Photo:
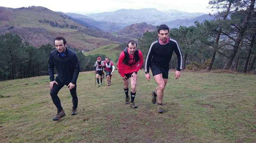
[[[66,15],[82,20],[89,27],[96,27],[106,32],[118,32],[136,23],[147,23],[154,26],[166,24],[170,28],[178,28],[179,26],[193,26],[195,21],[203,22],[204,20],[213,19],[204,13],[188,13],[177,10],[159,11],[152,8],[120,9],[114,12],[87,15],[66,13]]]

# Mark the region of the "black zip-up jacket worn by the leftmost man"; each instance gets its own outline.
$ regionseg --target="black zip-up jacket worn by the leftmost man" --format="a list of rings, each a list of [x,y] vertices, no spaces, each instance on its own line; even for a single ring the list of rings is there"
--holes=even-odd
[[[61,57],[57,50],[53,50],[48,61],[48,73],[50,81],[54,81],[54,66],[58,72],[56,81],[64,84],[76,84],[80,71],[79,62],[75,52],[66,47],[65,55]]]

